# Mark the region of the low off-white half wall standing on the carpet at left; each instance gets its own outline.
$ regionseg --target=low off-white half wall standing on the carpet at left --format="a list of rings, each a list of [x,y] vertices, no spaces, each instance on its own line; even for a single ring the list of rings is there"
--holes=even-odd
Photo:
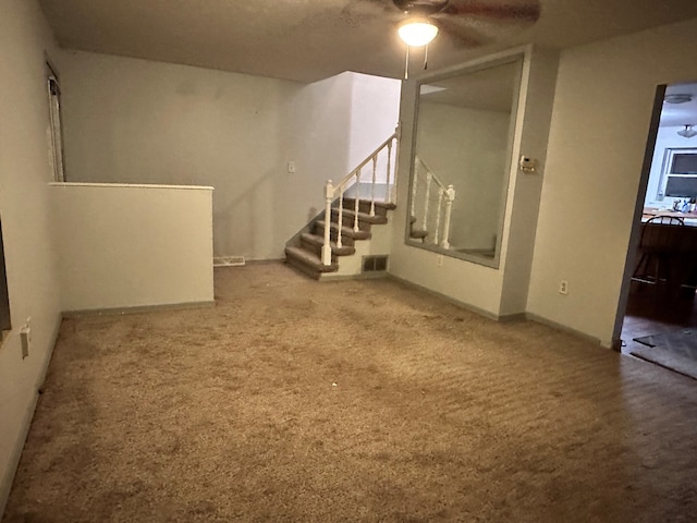
[[[63,311],[212,303],[211,187],[54,184]]]

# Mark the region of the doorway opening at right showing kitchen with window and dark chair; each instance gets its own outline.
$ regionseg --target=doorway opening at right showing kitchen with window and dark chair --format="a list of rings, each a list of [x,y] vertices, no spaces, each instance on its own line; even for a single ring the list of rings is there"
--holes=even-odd
[[[661,85],[621,299],[617,349],[697,379],[697,82]]]

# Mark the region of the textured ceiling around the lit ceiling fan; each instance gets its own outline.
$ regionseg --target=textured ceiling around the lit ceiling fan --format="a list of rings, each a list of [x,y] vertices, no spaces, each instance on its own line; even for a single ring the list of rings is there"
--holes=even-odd
[[[343,71],[400,77],[391,0],[39,0],[64,48],[314,82]],[[537,0],[451,0],[455,4]],[[531,25],[458,17],[430,46],[440,69],[519,44],[564,48],[697,16],[696,0],[539,0]],[[452,19],[450,19],[452,20]],[[448,20],[445,20],[448,22]],[[414,53],[412,66],[421,58]]]

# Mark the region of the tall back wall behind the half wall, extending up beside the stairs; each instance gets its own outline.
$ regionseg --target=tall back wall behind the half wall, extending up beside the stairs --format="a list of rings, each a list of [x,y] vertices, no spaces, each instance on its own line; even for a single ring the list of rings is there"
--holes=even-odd
[[[368,110],[384,95],[355,111],[352,98],[389,84],[352,73],[305,85],[88,52],[61,69],[68,180],[215,186],[217,256],[281,258],[325,182],[348,173],[352,139],[364,148],[352,122],[386,118]]]

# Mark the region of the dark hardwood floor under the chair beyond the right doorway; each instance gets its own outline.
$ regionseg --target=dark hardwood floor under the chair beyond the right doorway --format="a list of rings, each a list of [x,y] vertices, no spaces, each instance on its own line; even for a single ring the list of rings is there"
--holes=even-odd
[[[697,329],[697,299],[683,294],[670,296],[655,293],[652,288],[633,283],[622,327],[622,352],[641,346],[634,338],[660,335],[693,327]],[[697,349],[694,353],[697,360]]]

